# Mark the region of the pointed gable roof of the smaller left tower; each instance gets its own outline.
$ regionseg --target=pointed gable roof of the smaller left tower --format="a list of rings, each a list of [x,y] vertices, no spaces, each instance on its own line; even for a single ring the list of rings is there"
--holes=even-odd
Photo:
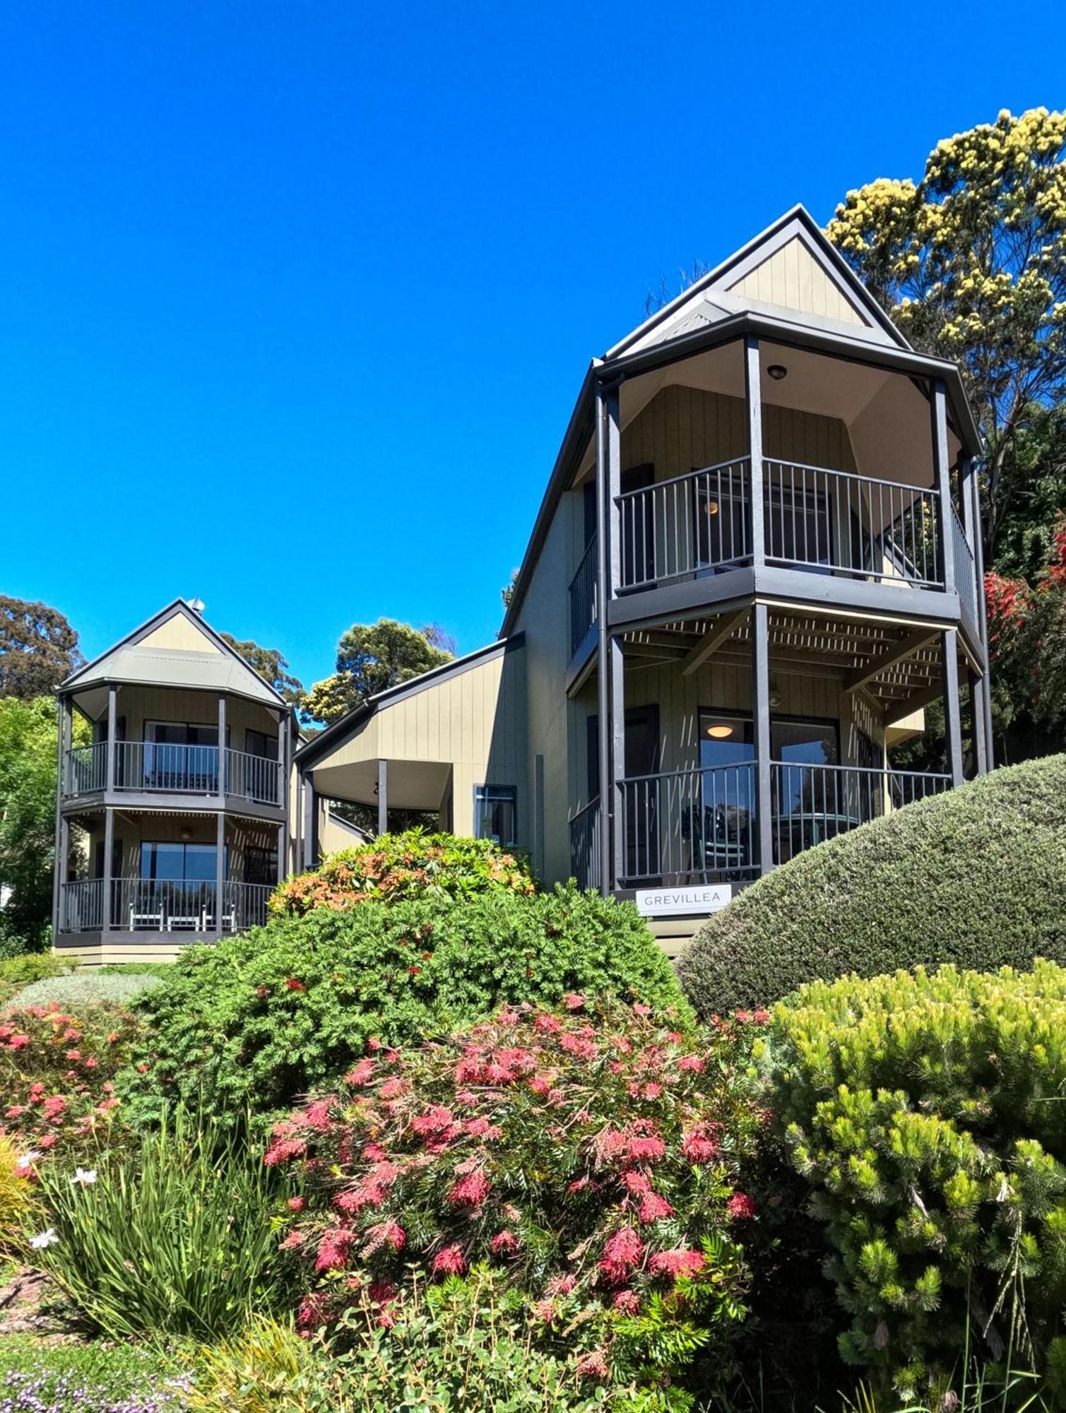
[[[184,599],[174,599],[106,653],[71,673],[59,691],[78,692],[103,682],[233,692],[290,711],[284,697]]]

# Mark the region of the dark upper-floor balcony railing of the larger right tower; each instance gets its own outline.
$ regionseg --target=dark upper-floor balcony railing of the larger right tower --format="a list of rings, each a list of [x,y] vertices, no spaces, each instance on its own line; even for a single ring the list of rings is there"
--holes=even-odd
[[[937,492],[799,462],[763,462],[766,562],[940,586]],[[621,588],[749,564],[748,458],[618,497]]]

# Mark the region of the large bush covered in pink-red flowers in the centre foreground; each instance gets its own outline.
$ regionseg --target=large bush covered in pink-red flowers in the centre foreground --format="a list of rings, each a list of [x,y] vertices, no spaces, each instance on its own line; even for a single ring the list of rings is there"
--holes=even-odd
[[[666,1379],[700,1344],[724,1355],[744,1316],[738,1226],[756,1218],[738,1181],[762,1122],[749,1041],[766,1019],[694,1036],[646,1006],[571,996],[448,1043],[379,1047],[266,1153],[301,1186],[284,1239],[305,1263],[300,1323],[332,1327],[369,1296],[387,1327],[413,1280],[488,1263],[588,1378],[652,1349]]]

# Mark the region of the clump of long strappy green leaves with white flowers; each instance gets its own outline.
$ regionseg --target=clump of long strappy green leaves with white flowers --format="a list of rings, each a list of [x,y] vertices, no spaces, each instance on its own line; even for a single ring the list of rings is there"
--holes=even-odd
[[[178,1109],[99,1169],[40,1177],[51,1232],[35,1259],[102,1334],[216,1338],[281,1301],[283,1184],[243,1135]]]

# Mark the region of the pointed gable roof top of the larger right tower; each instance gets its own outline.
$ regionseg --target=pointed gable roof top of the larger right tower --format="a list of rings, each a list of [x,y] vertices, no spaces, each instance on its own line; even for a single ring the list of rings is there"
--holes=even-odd
[[[604,360],[655,348],[745,311],[910,348],[810,212],[793,206],[615,343]]]

